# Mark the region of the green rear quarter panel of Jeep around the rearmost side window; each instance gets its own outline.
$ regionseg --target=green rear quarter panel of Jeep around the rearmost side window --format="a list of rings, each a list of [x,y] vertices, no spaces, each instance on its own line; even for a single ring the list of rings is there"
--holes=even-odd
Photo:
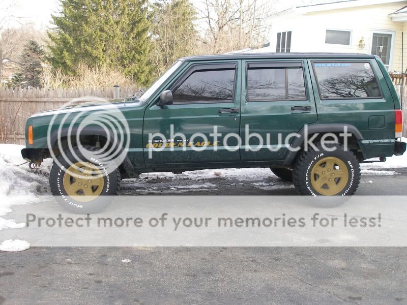
[[[368,63],[381,90],[377,98],[322,99],[315,74],[315,63]],[[312,58],[308,59],[318,124],[348,124],[361,133],[359,140],[363,158],[392,156],[394,152],[393,96],[375,58]]]

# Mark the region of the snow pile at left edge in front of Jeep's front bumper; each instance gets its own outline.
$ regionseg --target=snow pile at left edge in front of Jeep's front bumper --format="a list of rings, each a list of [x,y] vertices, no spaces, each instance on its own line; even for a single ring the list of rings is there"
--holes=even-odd
[[[15,204],[27,204],[39,201],[39,195],[48,194],[46,169],[32,170],[24,163],[21,149],[24,146],[15,144],[0,144],[0,216],[11,212]],[[5,228],[21,228],[24,224],[17,224],[14,220],[5,220],[0,217],[0,230]]]

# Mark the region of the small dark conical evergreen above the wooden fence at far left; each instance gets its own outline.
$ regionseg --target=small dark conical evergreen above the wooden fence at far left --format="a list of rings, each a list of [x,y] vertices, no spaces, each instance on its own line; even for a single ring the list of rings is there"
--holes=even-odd
[[[44,50],[34,41],[29,40],[18,57],[18,73],[11,81],[15,87],[41,87],[41,62]]]

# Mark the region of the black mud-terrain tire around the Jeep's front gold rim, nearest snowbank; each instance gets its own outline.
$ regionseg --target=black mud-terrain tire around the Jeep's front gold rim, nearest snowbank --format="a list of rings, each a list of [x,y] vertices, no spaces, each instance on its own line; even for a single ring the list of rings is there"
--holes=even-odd
[[[95,146],[84,146],[84,148],[90,151],[98,150],[98,148]],[[75,153],[78,158],[75,158],[73,153]],[[89,162],[103,171],[102,168],[106,168],[106,165],[86,159],[80,153],[78,147],[74,147],[73,151],[65,151],[65,154],[67,160],[63,158],[62,155],[57,159],[59,164],[62,165],[62,168],[54,162],[49,174],[50,190],[56,201],[62,207],[75,214],[92,214],[104,210],[113,201],[113,196],[119,193],[121,181],[119,169],[114,167],[115,170],[108,173],[108,175],[104,175],[104,186],[101,195],[90,202],[79,202],[68,196],[64,189],[63,177],[67,168],[76,162]],[[111,166],[111,164],[108,166]]]

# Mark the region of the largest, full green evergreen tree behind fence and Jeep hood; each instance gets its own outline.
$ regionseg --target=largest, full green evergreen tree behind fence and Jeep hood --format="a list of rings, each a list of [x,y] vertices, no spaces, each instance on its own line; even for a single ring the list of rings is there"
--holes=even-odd
[[[119,69],[140,84],[152,78],[147,0],[61,0],[48,58],[75,74],[79,63]]]

